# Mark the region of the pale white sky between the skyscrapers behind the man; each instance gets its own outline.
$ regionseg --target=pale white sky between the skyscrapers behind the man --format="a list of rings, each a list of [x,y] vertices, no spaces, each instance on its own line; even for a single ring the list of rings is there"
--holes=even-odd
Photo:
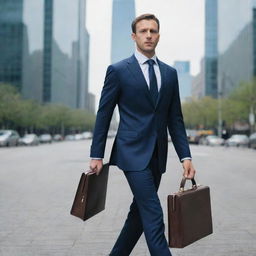
[[[113,0],[87,0],[86,27],[90,34],[89,91],[96,107],[111,56]],[[169,65],[190,61],[191,73],[200,71],[204,55],[204,0],[135,0],[136,16],[154,13],[160,20],[158,58]],[[131,38],[127,38],[131,40]],[[129,56],[127,56],[129,57]]]

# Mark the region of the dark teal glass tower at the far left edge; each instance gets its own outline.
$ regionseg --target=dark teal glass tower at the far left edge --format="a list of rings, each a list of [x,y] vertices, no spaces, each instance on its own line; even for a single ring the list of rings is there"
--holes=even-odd
[[[23,0],[0,0],[0,82],[22,87],[23,46],[27,29],[22,22]]]

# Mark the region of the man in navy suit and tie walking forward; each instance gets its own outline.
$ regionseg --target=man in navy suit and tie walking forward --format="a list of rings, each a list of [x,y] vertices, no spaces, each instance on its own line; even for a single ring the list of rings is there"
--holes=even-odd
[[[118,105],[120,123],[110,164],[124,171],[134,195],[124,227],[110,253],[130,255],[144,232],[150,254],[170,256],[163,212],[157,195],[167,159],[167,128],[183,164],[184,176],[194,177],[180,106],[176,70],[159,61],[159,20],[153,14],[132,23],[135,54],[110,65],[101,94],[91,146],[92,171],[99,174],[110,120]]]

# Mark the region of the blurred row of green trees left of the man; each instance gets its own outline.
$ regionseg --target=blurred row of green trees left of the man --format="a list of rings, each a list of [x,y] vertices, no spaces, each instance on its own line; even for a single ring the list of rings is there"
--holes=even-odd
[[[92,130],[94,122],[95,115],[87,110],[24,100],[13,86],[0,84],[0,126],[3,129],[64,135],[68,129]]]

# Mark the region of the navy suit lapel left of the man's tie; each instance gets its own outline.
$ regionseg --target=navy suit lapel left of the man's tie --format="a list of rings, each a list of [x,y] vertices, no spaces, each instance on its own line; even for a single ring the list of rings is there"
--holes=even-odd
[[[134,55],[132,55],[129,59],[128,59],[128,69],[129,71],[132,73],[133,77],[137,80],[137,82],[143,86],[143,90],[145,92],[146,97],[148,98],[148,100],[150,101],[150,103],[152,104],[153,107],[154,106],[154,102],[153,99],[151,97],[147,82],[145,80],[145,77],[142,73],[142,70],[140,68],[140,65],[137,61],[137,59],[135,58]]]

